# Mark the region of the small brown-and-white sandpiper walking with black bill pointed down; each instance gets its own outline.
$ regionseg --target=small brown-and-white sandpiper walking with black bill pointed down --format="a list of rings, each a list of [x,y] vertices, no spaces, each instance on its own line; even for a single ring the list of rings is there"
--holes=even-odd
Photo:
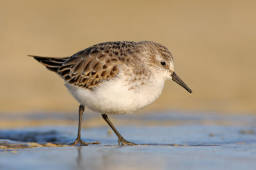
[[[63,78],[80,104],[77,138],[71,146],[100,144],[81,139],[84,107],[102,115],[118,137],[119,145],[138,145],[127,141],[108,115],[133,113],[153,103],[161,95],[166,80],[173,80],[192,93],[174,72],[172,53],[154,41],[109,41],[70,57],[28,56]]]

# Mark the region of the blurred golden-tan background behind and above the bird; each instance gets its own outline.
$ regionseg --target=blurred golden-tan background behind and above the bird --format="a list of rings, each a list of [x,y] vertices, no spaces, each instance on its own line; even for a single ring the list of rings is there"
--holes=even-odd
[[[26,55],[104,41],[165,45],[193,90],[167,81],[143,111],[256,113],[256,1],[0,1],[0,111],[74,111],[64,81]]]

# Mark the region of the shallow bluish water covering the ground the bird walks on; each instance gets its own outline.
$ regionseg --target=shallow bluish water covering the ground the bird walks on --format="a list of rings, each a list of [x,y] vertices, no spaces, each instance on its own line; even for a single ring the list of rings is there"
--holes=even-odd
[[[59,116],[56,120],[66,117]],[[48,117],[33,116],[38,118]],[[76,138],[76,125],[4,129],[0,169],[256,169],[255,117],[166,112],[111,118],[125,139],[149,145],[118,146],[103,124],[81,134],[84,141],[101,145],[76,147],[67,146]],[[126,121],[131,124],[122,125]]]

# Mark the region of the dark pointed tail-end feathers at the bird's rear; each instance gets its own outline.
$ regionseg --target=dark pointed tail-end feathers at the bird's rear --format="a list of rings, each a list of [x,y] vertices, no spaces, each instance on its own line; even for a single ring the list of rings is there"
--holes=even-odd
[[[41,64],[43,64],[47,69],[58,72],[58,69],[63,66],[63,62],[65,62],[69,57],[55,58],[55,57],[40,57],[36,55],[28,55],[29,57],[34,57],[34,59],[38,60]]]

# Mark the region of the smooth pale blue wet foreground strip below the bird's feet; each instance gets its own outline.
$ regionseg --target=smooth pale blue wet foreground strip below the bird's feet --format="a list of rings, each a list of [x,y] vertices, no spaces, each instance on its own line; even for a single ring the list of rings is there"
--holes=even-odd
[[[3,169],[255,169],[256,145],[82,146],[0,152]],[[15,164],[13,164],[15,160]]]

